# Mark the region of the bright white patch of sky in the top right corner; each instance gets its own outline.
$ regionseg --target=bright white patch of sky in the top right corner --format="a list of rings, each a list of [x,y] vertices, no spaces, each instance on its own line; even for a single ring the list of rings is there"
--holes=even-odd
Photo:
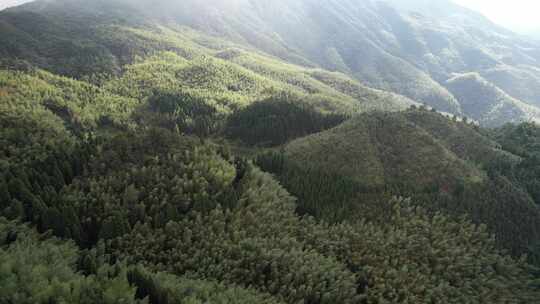
[[[514,31],[540,31],[540,0],[454,0]]]

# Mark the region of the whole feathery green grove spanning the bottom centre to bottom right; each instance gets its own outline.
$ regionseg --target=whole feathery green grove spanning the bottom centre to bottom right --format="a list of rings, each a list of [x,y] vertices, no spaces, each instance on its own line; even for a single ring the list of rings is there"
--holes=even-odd
[[[287,303],[528,303],[537,296],[527,287],[526,264],[500,254],[485,228],[467,220],[398,200],[383,204],[378,220],[329,226],[294,215],[267,176],[252,171],[243,183],[235,208],[194,213],[163,229],[138,226],[109,250],[151,269],[253,286]]]

